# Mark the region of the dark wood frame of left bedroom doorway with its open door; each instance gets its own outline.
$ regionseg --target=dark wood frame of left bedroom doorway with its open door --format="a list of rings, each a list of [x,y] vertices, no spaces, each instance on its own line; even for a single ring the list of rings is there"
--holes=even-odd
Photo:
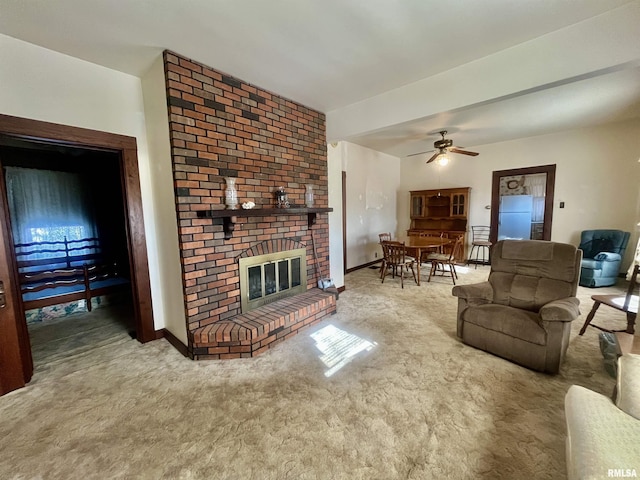
[[[8,115],[0,115],[0,137],[115,155],[111,158],[117,158],[119,167],[135,337],[140,342],[158,338],[151,305],[136,139]],[[101,181],[99,175],[95,181]],[[0,295],[4,295],[1,299],[4,308],[0,308],[0,395],[24,386],[33,374],[7,203],[3,177],[0,182]]]

